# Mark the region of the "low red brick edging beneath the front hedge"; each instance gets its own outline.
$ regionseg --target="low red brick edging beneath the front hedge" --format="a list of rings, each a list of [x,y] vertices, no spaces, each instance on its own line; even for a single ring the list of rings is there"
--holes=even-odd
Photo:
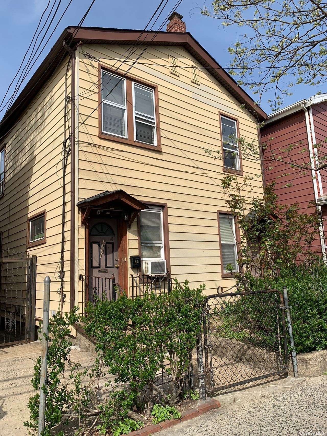
[[[160,422],[160,424],[152,424],[150,426],[143,427],[143,429],[135,430],[128,433],[129,436],[149,436],[153,433],[158,433],[161,430],[168,429],[169,427],[176,426],[180,422],[188,421],[189,419],[196,418],[197,416],[203,415],[210,410],[219,409],[221,407],[220,402],[214,399],[204,401],[194,409],[186,410],[182,413],[180,419],[170,419],[170,421]]]

